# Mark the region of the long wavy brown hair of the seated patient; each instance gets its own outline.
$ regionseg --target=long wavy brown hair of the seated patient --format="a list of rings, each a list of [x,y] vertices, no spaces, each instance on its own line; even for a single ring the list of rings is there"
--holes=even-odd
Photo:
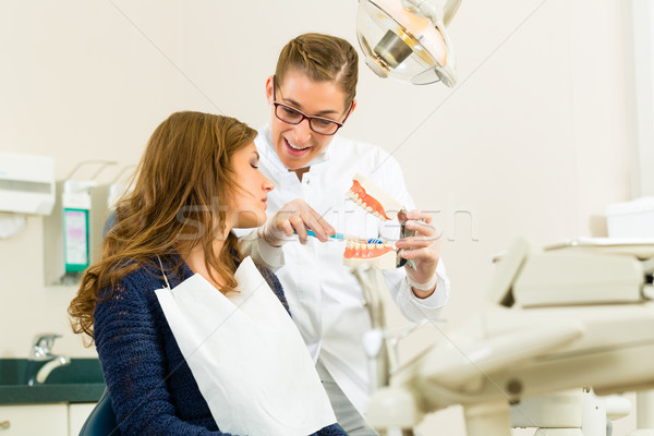
[[[184,254],[201,245],[207,269],[223,283],[221,292],[234,290],[237,237],[230,232],[217,255],[213,243],[225,234],[226,206],[238,189],[231,157],[255,136],[246,124],[209,113],[177,112],[159,124],[138,164],[133,190],[116,206],[101,258],[86,269],[69,306],[74,332],[88,335],[93,343],[100,291],[108,289],[101,298],[110,298],[124,276],[154,266],[157,255]]]

